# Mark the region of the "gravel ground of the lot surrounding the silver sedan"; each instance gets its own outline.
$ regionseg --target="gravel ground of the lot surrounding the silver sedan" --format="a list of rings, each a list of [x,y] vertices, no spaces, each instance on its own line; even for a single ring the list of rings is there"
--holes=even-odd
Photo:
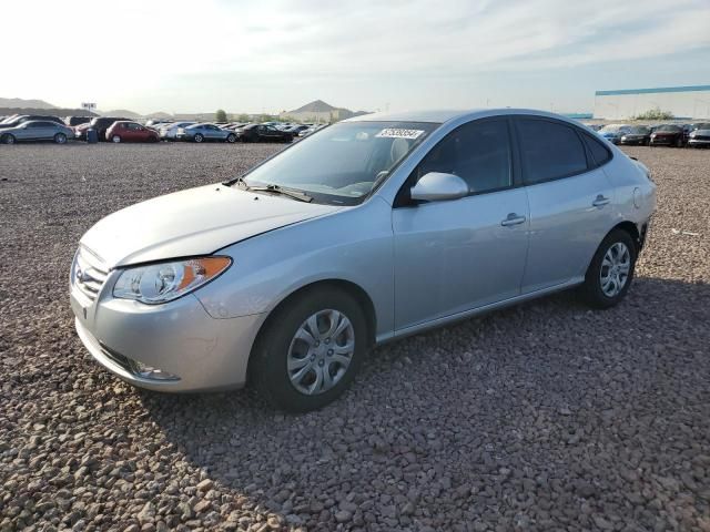
[[[659,204],[620,306],[562,294],[382,347],[318,412],[93,364],[81,234],[277,149],[0,146],[0,531],[710,531],[710,151],[628,150]]]

